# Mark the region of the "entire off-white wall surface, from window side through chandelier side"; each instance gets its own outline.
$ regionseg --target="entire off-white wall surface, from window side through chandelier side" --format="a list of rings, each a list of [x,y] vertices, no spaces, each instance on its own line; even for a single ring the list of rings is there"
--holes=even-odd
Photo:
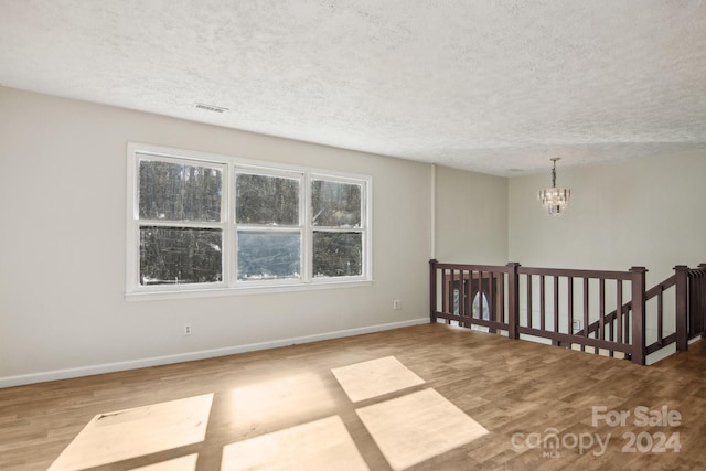
[[[373,176],[373,286],[126,301],[126,143]],[[0,387],[424,322],[428,164],[0,87]],[[558,169],[573,189],[543,214],[546,174],[436,169],[440,261],[624,270],[706,261],[706,154]],[[392,309],[394,299],[403,309]],[[193,335],[182,335],[190,322]]]

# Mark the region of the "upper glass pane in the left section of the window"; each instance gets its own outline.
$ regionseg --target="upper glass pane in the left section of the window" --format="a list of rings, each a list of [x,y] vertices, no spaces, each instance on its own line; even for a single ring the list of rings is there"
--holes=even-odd
[[[221,221],[222,171],[140,160],[141,218]]]

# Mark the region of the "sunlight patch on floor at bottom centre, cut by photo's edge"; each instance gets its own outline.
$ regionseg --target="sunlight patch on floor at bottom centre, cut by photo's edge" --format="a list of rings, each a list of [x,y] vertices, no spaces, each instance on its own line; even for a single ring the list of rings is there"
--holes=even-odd
[[[367,464],[339,416],[224,447],[221,471],[366,471]]]

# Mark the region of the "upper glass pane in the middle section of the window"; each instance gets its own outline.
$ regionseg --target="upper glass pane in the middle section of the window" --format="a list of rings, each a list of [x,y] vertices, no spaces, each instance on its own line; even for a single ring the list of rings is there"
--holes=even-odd
[[[235,190],[236,222],[299,225],[299,180],[238,174]]]

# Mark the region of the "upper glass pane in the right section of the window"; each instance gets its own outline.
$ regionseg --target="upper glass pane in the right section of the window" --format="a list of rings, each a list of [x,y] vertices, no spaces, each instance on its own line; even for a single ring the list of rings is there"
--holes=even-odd
[[[360,227],[361,190],[360,184],[312,181],[312,224],[327,227]]]

